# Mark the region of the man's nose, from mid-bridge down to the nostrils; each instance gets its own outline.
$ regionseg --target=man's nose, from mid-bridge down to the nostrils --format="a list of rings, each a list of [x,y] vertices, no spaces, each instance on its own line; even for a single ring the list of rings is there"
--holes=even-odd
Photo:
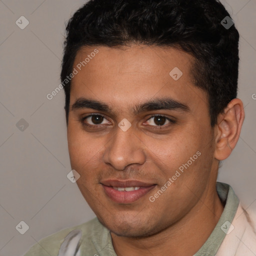
[[[116,128],[113,138],[107,143],[103,161],[116,170],[124,170],[129,164],[143,164],[146,160],[144,144],[132,127],[123,131]]]

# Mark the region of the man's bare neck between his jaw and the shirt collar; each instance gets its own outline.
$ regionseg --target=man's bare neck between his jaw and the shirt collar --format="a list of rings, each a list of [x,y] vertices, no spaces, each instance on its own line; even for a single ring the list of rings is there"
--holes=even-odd
[[[194,207],[179,221],[148,237],[123,237],[111,233],[117,256],[193,255],[207,240],[220,215],[223,205],[215,186],[208,189]]]

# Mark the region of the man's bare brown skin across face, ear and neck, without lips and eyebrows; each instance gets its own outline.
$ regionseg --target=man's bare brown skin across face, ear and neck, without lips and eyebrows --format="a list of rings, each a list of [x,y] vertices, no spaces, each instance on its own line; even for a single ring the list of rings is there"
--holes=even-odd
[[[118,256],[193,255],[223,211],[215,189],[218,163],[238,140],[242,102],[231,100],[211,127],[207,94],[193,84],[191,55],[145,45],[95,48],[99,52],[71,82],[67,139],[71,167],[80,174],[77,185],[110,230]],[[74,67],[93,49],[78,51]],[[183,73],[176,81],[169,75],[174,67]],[[80,97],[105,103],[112,111],[72,109]],[[135,105],[162,97],[187,105],[189,111],[132,112]],[[103,115],[102,123],[93,124],[91,117],[81,121],[91,113]],[[157,125],[156,114],[176,122],[163,118],[164,124]],[[131,123],[125,132],[118,127],[123,118]],[[197,151],[201,155],[154,202],[149,201]],[[100,183],[105,179],[136,179],[156,186],[132,203],[117,203],[105,194]]]

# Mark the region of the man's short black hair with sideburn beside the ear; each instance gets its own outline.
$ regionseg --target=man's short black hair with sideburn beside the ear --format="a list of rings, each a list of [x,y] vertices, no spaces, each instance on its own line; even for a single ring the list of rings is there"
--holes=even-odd
[[[229,16],[217,0],[90,0],[66,25],[61,83],[68,123],[70,81],[82,46],[120,47],[132,43],[180,48],[194,57],[195,86],[208,95],[211,126],[236,97],[239,33],[221,24]],[[225,23],[227,21],[225,20]],[[232,21],[231,21],[232,22]]]

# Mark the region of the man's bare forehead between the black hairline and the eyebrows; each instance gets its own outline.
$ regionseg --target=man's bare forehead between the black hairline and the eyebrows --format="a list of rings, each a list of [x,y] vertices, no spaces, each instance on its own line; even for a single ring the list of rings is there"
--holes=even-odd
[[[73,64],[78,72],[71,81],[70,103],[86,96],[126,106],[171,96],[206,104],[205,93],[193,84],[192,63],[190,54],[173,47],[83,47]]]

